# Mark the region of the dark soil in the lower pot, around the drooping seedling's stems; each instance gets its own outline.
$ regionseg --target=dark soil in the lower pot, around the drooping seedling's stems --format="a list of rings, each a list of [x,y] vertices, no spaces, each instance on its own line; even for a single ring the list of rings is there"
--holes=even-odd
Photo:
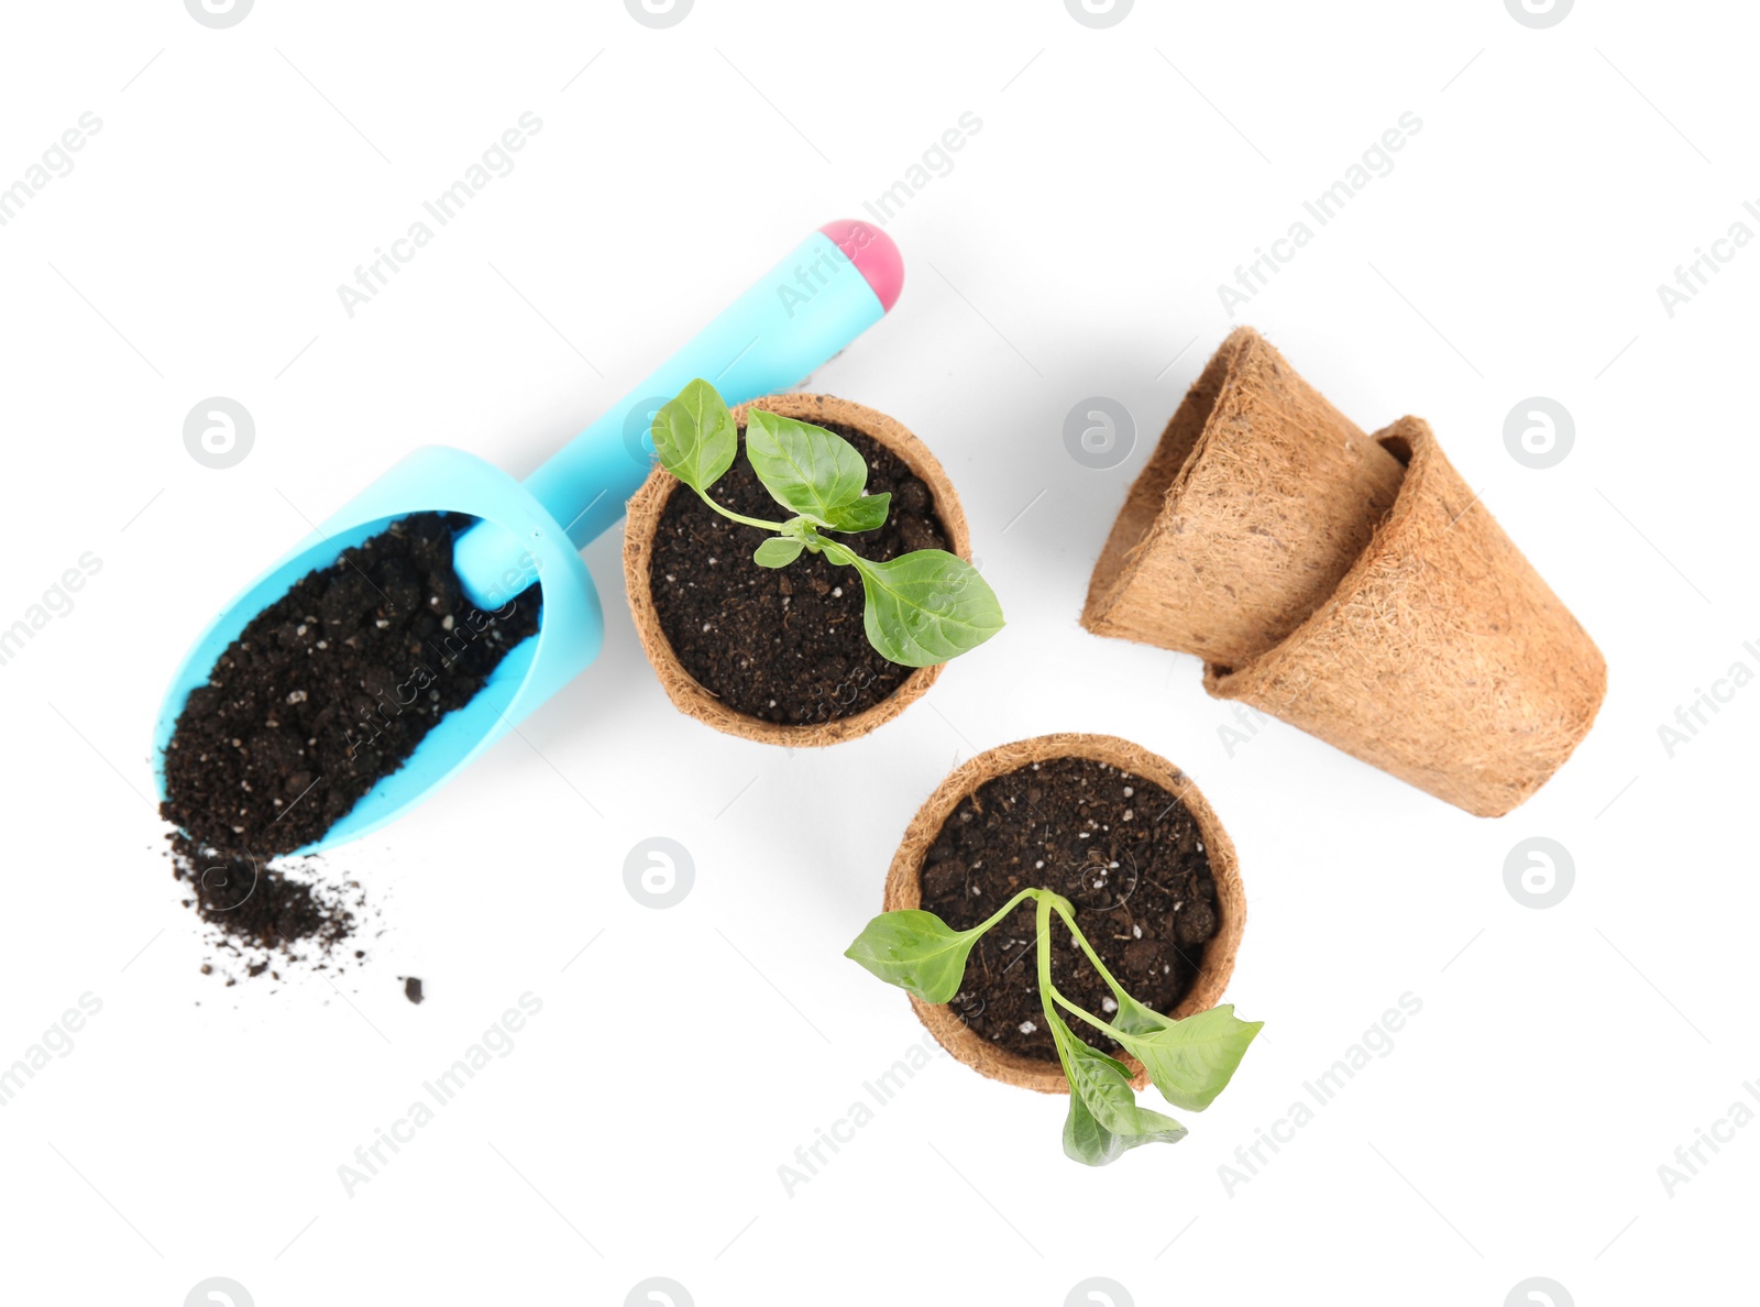
[[[1186,997],[1218,928],[1216,881],[1186,807],[1151,780],[1084,757],[1033,763],[979,786],[924,856],[922,907],[957,930],[1028,886],[1068,898],[1107,969],[1160,1013]],[[1051,939],[1058,990],[1105,1020],[1112,992],[1061,919],[1052,919]],[[1031,902],[972,949],[950,1006],[986,1039],[1058,1060],[1038,997]],[[1079,1016],[1065,1018],[1096,1048],[1118,1048]]]

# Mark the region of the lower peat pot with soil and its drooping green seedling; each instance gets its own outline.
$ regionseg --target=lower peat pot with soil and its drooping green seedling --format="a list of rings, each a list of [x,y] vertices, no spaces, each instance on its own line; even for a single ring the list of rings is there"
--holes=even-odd
[[[887,911],[847,956],[910,993],[994,1080],[1068,1094],[1063,1150],[1104,1166],[1186,1127],[1258,1034],[1230,1004],[1246,898],[1234,844],[1188,777],[1116,736],[979,754],[917,812]]]

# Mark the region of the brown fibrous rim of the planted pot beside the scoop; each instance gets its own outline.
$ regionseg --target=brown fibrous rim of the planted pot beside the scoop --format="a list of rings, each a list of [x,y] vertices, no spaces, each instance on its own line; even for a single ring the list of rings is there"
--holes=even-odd
[[[970,562],[972,534],[966,527],[966,514],[959,507],[959,497],[954,493],[954,484],[947,479],[947,472],[942,470],[940,462],[929,453],[929,447],[903,423],[884,412],[852,403],[850,400],[840,400],[832,395],[767,395],[760,400],[741,403],[734,409],[734,419],[741,426],[744,426],[750,409],[762,409],[780,417],[794,417],[796,421],[815,423],[818,426],[831,423],[850,426],[885,446],[910,469],[912,476],[929,488],[929,502],[935,516],[947,532],[949,551]],[[737,735],[760,743],[813,749],[854,740],[884,726],[920,699],[942,675],[942,666],[945,664],[915,668],[892,694],[871,708],[824,722],[804,722],[799,726],[766,722],[729,708],[683,668],[655,609],[649,578],[655,532],[660,527],[660,516],[665,513],[667,502],[681,486],[683,483],[678,477],[656,463],[641,484],[641,490],[630,498],[628,523],[623,534],[623,583],[630,597],[630,611],[635,617],[635,634],[674,708],[727,735]],[[690,491],[686,490],[685,493]],[[753,534],[753,544],[757,539],[757,534]]]

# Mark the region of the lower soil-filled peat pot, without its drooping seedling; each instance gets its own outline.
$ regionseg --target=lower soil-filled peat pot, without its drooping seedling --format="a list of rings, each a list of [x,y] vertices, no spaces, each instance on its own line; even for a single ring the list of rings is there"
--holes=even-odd
[[[1165,757],[1111,735],[1042,735],[954,770],[912,817],[885,879],[885,911],[922,907],[979,925],[1016,891],[1049,888],[1130,995],[1174,1018],[1214,1008],[1234,974],[1246,893],[1234,844],[1199,787]],[[1052,978],[1105,1013],[1111,990],[1052,928]],[[1067,1094],[1042,1030],[1033,905],[989,930],[947,1004],[910,1006],[966,1066],[1010,1085]],[[1068,1018],[1148,1085],[1142,1064]]]

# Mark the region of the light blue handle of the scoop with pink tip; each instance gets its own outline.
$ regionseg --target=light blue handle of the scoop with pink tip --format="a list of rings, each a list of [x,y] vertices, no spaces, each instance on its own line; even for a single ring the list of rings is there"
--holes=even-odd
[[[702,377],[730,405],[787,389],[878,322],[898,299],[903,259],[868,222],[829,222],[759,278],[678,354],[526,479],[579,550],[623,516],[653,467],[653,412]],[[528,543],[489,521],[459,535],[465,594],[500,608],[535,580]]]

